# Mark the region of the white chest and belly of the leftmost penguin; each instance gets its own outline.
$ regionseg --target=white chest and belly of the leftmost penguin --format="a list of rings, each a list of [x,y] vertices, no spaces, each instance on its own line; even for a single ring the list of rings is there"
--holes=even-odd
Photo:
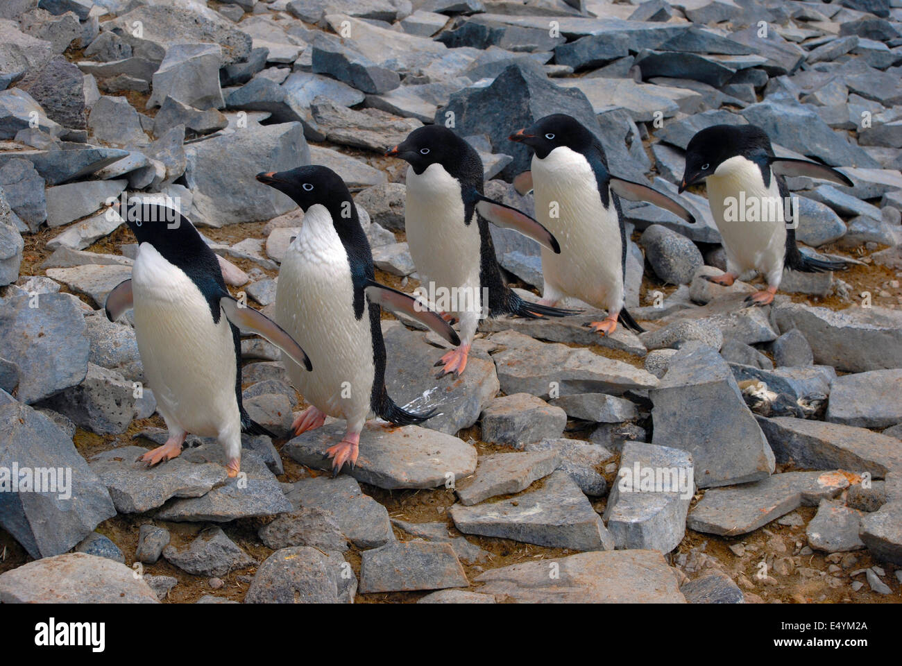
[[[201,437],[240,429],[235,342],[197,285],[149,243],[132,270],[134,333],[147,382],[170,428]]]

